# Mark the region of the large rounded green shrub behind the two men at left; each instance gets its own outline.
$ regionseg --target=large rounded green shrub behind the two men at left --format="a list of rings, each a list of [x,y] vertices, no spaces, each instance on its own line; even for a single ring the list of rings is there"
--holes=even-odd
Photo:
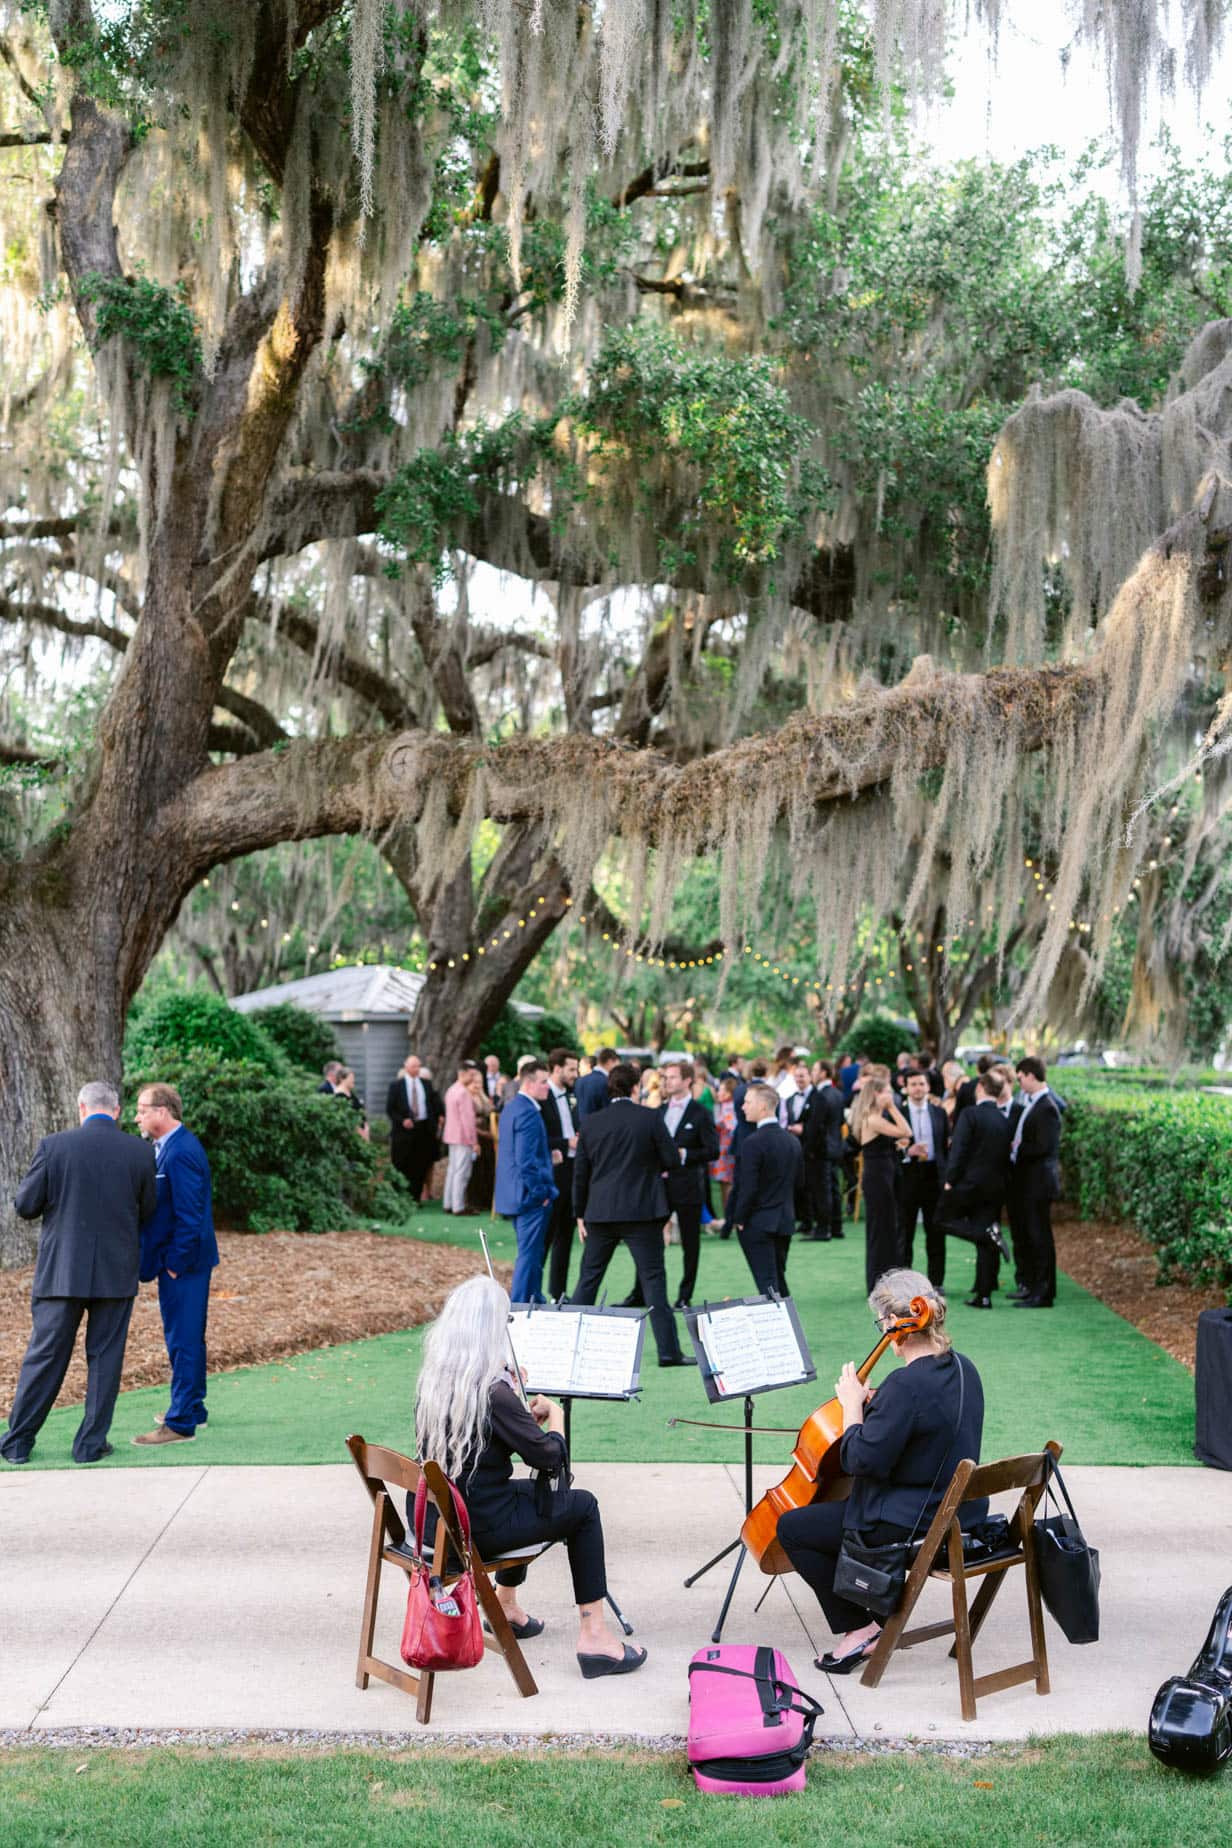
[[[356,1218],[403,1218],[406,1194],[384,1151],[308,1077],[194,1048],[153,1052],[129,1072],[127,1096],[135,1101],[153,1083],[175,1085],[183,1098],[185,1124],[209,1155],[222,1225],[329,1233]]]

